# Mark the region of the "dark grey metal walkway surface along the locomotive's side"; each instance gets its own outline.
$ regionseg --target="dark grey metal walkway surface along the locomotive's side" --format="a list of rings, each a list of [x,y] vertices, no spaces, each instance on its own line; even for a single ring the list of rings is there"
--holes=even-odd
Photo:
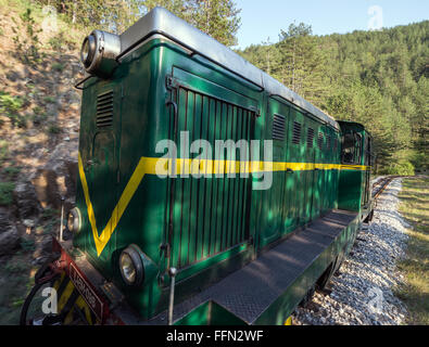
[[[329,246],[356,217],[355,213],[332,210],[244,268],[177,305],[174,321],[204,304],[215,303],[245,324],[258,323],[263,313],[286,292],[294,295],[289,294],[295,288],[294,283],[305,281],[304,273],[317,259],[327,256]],[[304,286],[301,284],[300,290]],[[146,324],[166,324],[166,314],[163,312]]]

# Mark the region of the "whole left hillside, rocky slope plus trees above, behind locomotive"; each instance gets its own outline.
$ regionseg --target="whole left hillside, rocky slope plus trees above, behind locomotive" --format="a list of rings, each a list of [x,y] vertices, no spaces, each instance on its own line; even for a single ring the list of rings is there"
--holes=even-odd
[[[18,323],[51,254],[61,197],[65,208],[74,201],[80,44],[96,28],[122,33],[155,4],[236,42],[230,0],[0,0],[0,324]]]

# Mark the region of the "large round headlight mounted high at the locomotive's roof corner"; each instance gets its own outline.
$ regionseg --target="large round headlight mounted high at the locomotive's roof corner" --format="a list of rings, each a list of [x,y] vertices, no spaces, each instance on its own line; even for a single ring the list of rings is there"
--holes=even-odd
[[[93,30],[81,44],[80,61],[88,74],[102,78],[112,75],[121,53],[121,38],[117,35]]]

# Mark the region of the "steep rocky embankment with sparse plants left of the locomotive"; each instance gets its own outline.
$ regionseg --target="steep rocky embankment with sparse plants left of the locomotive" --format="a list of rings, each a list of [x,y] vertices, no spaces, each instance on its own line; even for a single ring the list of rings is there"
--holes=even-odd
[[[20,249],[34,250],[37,266],[58,230],[61,197],[66,206],[74,198],[80,107],[74,85],[83,67],[68,34],[37,31],[39,56],[30,61],[14,42],[15,33],[29,40],[20,12],[0,9],[0,268]]]

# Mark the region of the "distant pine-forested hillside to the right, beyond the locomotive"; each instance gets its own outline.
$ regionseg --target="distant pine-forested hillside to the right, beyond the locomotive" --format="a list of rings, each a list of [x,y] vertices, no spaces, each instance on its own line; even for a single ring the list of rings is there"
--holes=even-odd
[[[313,36],[291,24],[278,43],[238,53],[337,119],[373,133],[379,172],[428,169],[429,21]]]

